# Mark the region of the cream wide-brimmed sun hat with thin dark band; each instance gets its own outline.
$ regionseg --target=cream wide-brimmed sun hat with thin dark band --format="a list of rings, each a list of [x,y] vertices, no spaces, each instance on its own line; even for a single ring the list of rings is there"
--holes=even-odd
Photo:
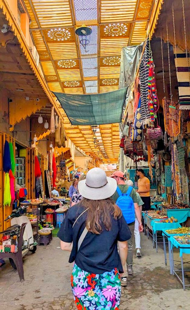
[[[100,168],[88,171],[86,180],[78,184],[80,195],[91,200],[101,200],[111,197],[117,188],[115,179],[106,176],[106,172]]]

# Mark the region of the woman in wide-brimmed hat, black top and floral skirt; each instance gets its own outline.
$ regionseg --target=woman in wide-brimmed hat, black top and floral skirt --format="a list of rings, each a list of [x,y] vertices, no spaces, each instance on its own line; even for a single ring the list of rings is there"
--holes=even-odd
[[[119,272],[125,272],[131,232],[121,210],[110,200],[117,182],[100,168],[79,183],[83,196],[67,212],[58,232],[61,249],[70,251],[71,287],[78,310],[118,310]],[[119,254],[117,250],[119,247]]]

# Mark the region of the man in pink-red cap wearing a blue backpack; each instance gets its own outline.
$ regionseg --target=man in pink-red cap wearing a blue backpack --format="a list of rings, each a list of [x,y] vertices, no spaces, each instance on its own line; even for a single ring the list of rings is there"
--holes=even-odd
[[[129,229],[131,231],[131,238],[127,241],[128,243],[128,254],[127,254],[127,272],[129,275],[132,275],[133,269],[133,236],[135,229],[135,214],[139,222],[139,232],[143,231],[142,221],[139,206],[137,204],[136,191],[132,186],[128,186],[124,181],[124,173],[122,171],[115,171],[111,178],[114,178],[117,181],[117,189],[114,195],[111,197],[116,205],[122,210],[124,219],[126,220]],[[127,285],[127,278],[122,277],[121,285]]]

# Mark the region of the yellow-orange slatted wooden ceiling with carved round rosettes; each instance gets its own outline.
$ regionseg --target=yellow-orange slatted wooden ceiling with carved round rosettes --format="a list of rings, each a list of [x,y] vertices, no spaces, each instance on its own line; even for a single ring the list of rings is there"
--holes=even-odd
[[[95,94],[118,89],[121,50],[146,38],[153,0],[24,0],[31,18],[30,32],[51,91]],[[91,26],[86,49],[76,27]],[[104,161],[117,161],[119,125],[100,125],[93,143],[90,126],[65,130],[74,144]]]

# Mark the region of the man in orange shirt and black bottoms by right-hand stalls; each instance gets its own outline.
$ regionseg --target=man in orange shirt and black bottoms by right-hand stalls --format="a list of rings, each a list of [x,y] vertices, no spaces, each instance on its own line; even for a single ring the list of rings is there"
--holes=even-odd
[[[136,192],[139,193],[142,201],[144,202],[142,210],[150,210],[150,181],[147,177],[145,177],[145,172],[143,169],[138,169],[136,174],[139,176],[138,190],[136,190]]]

